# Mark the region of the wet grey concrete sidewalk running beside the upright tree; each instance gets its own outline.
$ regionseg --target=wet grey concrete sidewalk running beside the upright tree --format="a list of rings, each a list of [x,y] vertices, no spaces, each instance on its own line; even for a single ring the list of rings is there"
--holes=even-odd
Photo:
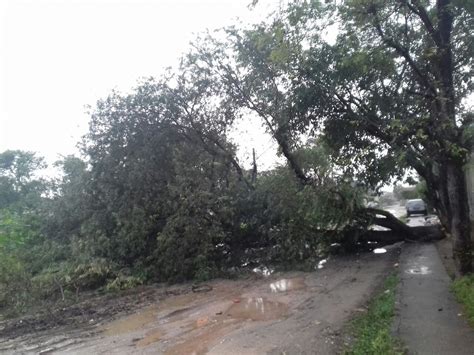
[[[474,330],[450,293],[433,244],[407,244],[400,258],[397,335],[409,354],[474,354]]]

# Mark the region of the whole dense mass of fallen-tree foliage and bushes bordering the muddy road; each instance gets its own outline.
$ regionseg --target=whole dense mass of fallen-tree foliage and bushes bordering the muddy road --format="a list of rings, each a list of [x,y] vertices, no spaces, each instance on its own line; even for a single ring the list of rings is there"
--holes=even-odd
[[[270,55],[275,65],[282,53]],[[58,162],[60,179],[2,175],[7,192],[38,187],[22,187],[0,210],[4,307],[21,312],[87,290],[204,281],[245,262],[314,266],[360,224],[361,191],[335,173],[322,141],[294,151],[312,185],[302,186],[290,166],[251,184],[226,137],[238,114],[218,100],[209,76],[186,73],[179,89],[147,81],[100,101],[82,143],[86,158]]]

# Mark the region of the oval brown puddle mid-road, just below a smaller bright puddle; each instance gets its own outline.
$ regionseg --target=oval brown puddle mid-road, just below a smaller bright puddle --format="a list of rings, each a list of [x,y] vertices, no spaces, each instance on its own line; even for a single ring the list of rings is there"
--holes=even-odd
[[[264,321],[280,319],[288,313],[286,304],[269,301],[263,297],[240,298],[234,302],[226,312],[227,316],[234,319]]]

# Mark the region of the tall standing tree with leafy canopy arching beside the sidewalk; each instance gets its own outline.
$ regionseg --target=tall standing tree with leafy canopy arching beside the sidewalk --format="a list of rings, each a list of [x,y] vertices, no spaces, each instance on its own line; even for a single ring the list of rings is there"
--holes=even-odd
[[[334,19],[330,43],[322,33]],[[196,46],[195,65],[263,119],[303,184],[314,181],[294,154],[302,136],[323,135],[341,169],[370,186],[416,170],[467,273],[473,21],[462,0],[300,1],[270,23],[228,29],[229,42]]]

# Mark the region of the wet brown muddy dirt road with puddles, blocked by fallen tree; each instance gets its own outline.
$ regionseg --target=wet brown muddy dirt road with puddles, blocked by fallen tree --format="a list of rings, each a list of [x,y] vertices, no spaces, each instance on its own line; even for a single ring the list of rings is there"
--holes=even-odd
[[[332,257],[314,272],[152,286],[0,324],[0,352],[331,354],[399,249]]]

